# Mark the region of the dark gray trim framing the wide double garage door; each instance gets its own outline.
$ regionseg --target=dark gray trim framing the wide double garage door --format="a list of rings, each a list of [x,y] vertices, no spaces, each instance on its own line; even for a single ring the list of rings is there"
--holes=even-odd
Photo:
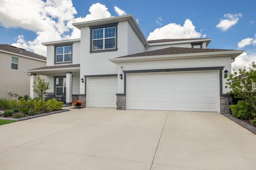
[[[154,69],[154,70],[127,70],[124,73],[124,94],[116,94],[118,96],[126,96],[126,74],[130,73],[152,73],[152,72],[180,72],[180,71],[208,71],[208,70],[219,70],[220,72],[220,95],[222,95],[222,70],[224,66],[219,67],[197,67],[197,68],[166,68],[166,69]]]

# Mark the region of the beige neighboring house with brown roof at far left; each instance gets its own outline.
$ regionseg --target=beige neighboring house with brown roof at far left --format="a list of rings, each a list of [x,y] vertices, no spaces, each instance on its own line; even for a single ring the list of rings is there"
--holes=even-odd
[[[13,100],[13,94],[30,94],[30,75],[24,70],[46,66],[46,57],[0,44],[0,99]]]

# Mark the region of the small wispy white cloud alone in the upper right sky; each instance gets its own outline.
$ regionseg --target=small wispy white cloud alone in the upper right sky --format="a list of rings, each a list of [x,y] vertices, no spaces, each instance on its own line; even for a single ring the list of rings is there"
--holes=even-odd
[[[238,14],[224,14],[224,17],[227,18],[225,20],[221,19],[220,23],[216,25],[217,28],[220,28],[222,31],[227,31],[230,27],[235,25],[239,18],[243,15],[241,13]]]

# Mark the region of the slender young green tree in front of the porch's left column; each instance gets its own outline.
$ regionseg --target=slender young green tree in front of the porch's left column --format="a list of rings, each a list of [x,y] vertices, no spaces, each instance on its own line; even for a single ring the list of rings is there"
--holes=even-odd
[[[43,100],[43,95],[47,94],[46,90],[50,89],[50,82],[44,82],[44,79],[41,79],[40,76],[37,76],[37,84],[33,82],[34,86],[32,86],[33,92],[38,95],[39,100]]]

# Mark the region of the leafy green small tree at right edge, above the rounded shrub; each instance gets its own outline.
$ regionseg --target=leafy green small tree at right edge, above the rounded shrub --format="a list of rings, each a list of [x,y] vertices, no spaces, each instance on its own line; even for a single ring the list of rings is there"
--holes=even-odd
[[[250,64],[252,68],[246,71],[245,67],[234,71],[233,74],[225,76],[228,78],[228,86],[226,88],[232,89],[229,93],[234,94],[238,98],[243,98],[248,102],[254,110],[256,110],[256,64]],[[246,76],[243,76],[246,75]]]

